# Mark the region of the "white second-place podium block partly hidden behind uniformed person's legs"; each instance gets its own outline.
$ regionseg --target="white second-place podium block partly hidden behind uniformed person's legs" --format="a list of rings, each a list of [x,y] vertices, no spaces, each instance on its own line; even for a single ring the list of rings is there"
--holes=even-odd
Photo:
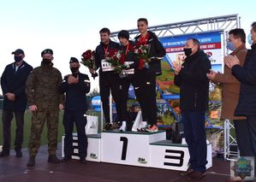
[[[64,138],[62,141],[62,156],[64,156]],[[91,134],[87,135],[88,146],[87,146],[87,156],[86,161],[100,161],[101,154],[100,154],[100,147],[101,147],[101,138],[100,134]],[[78,156],[78,140],[77,140],[77,133],[73,133],[73,149],[74,153],[72,155],[72,159],[80,159]]]

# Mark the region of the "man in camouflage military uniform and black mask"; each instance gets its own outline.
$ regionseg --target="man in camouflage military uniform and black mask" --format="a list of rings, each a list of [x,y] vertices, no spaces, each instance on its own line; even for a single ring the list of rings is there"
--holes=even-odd
[[[51,163],[60,162],[56,156],[57,129],[59,109],[63,109],[64,97],[59,92],[59,87],[62,84],[62,74],[57,68],[52,67],[52,55],[52,50],[43,50],[41,66],[34,68],[27,78],[27,100],[29,109],[32,111],[31,135],[28,144],[28,167],[35,164],[35,156],[40,146],[45,121],[48,128],[48,161]]]

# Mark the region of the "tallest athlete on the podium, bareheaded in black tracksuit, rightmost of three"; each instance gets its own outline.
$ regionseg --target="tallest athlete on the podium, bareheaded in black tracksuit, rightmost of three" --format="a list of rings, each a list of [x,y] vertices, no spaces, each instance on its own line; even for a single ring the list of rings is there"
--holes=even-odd
[[[151,61],[149,68],[146,68],[145,60],[139,60],[138,75],[136,76],[140,86],[135,87],[137,90],[138,100],[142,111],[142,118],[147,121],[146,128],[142,131],[158,132],[157,126],[157,101],[156,101],[156,76],[162,73],[161,60],[165,56],[163,45],[158,40],[155,33],[147,30],[148,22],[146,18],[140,18],[137,21],[140,35],[135,38],[135,44],[149,44]]]

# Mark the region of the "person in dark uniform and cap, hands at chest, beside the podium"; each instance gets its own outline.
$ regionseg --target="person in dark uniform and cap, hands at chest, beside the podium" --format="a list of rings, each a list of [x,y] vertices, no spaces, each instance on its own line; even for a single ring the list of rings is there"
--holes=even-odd
[[[79,72],[80,64],[75,57],[70,58],[72,74],[64,77],[60,91],[66,93],[63,126],[65,129],[63,162],[70,161],[73,154],[73,128],[76,126],[80,162],[86,162],[86,93],[90,91],[90,80]]]

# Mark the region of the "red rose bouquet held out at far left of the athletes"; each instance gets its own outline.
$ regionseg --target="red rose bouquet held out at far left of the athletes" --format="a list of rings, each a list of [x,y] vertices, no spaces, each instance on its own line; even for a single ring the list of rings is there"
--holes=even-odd
[[[95,77],[98,76],[98,73],[95,71],[95,58],[94,58],[94,53],[95,51],[92,50],[86,50],[83,54],[82,54],[82,63],[83,65],[85,65],[87,68],[89,69],[93,69],[94,73],[92,73],[92,78],[95,79]]]

